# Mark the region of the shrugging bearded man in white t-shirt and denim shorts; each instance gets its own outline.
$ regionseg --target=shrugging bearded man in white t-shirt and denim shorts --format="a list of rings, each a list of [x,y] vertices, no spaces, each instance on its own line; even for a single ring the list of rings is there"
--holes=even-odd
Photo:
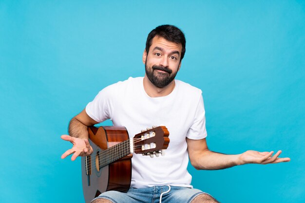
[[[131,189],[127,193],[107,191],[92,203],[217,203],[209,194],[192,188],[187,171],[189,158],[196,169],[222,169],[248,163],[288,162],[281,151],[246,151],[226,155],[210,151],[206,142],[205,110],[201,90],[175,76],[185,54],[184,34],[172,25],[161,25],[148,35],[143,53],[145,76],[129,78],[100,91],[86,109],[70,122],[69,135],[61,138],[73,143],[62,158],[92,153],[87,127],[111,119],[125,126],[129,135],[141,129],[164,125],[170,132],[166,156],[150,159],[133,156]]]

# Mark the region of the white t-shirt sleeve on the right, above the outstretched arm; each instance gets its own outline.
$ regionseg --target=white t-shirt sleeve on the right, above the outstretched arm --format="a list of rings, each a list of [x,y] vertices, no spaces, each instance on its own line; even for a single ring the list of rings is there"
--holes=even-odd
[[[207,137],[206,130],[206,112],[204,109],[203,98],[200,95],[200,99],[194,115],[194,121],[187,132],[187,138],[193,140],[200,140]]]

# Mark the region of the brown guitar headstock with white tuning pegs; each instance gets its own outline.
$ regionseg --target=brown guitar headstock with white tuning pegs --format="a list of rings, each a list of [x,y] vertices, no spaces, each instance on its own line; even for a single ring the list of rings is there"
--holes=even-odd
[[[170,143],[169,131],[165,126],[142,130],[133,137],[133,152],[136,154],[150,155],[153,157],[164,155],[164,150]]]

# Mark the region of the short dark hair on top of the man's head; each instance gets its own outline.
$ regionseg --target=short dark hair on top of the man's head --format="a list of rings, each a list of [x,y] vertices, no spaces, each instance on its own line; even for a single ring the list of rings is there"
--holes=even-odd
[[[182,58],[184,57],[184,54],[185,54],[186,40],[185,40],[184,33],[179,28],[177,28],[176,26],[173,26],[173,25],[160,25],[160,26],[156,27],[155,29],[153,29],[148,34],[148,37],[146,40],[145,50],[146,50],[147,54],[148,54],[149,48],[152,46],[152,39],[155,36],[163,37],[166,40],[175,42],[177,44],[181,43],[182,51],[181,51],[180,61],[182,60]]]

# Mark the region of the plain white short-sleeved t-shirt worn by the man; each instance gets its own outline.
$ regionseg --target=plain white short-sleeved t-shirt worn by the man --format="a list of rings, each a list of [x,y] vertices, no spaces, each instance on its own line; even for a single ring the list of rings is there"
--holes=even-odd
[[[96,122],[111,119],[114,126],[125,126],[130,138],[152,126],[166,126],[169,130],[165,156],[133,154],[132,187],[192,187],[186,137],[198,140],[207,136],[201,93],[200,89],[175,80],[169,95],[150,97],[144,90],[143,77],[130,77],[104,88],[86,106],[87,114]]]

